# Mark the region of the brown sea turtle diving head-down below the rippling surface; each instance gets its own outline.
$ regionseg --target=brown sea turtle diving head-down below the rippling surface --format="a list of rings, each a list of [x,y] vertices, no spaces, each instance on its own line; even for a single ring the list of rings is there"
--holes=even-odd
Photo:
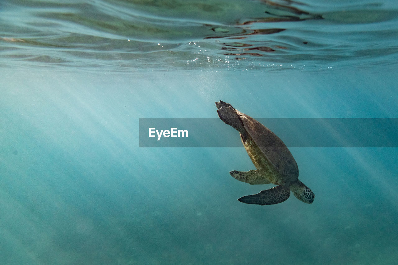
[[[229,173],[249,184],[277,185],[257,194],[238,199],[242,203],[270,205],[286,201],[290,191],[304,203],[312,203],[315,195],[298,180],[298,167],[287,146],[267,127],[252,117],[234,109],[224,101],[216,102],[220,119],[240,133],[242,143],[257,170]]]

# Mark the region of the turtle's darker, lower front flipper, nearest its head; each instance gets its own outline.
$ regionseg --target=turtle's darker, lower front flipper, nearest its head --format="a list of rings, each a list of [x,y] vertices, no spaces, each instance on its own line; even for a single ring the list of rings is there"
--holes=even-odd
[[[290,196],[290,189],[286,186],[276,186],[265,191],[260,191],[257,194],[246,195],[238,199],[242,203],[270,205],[282,203]]]

